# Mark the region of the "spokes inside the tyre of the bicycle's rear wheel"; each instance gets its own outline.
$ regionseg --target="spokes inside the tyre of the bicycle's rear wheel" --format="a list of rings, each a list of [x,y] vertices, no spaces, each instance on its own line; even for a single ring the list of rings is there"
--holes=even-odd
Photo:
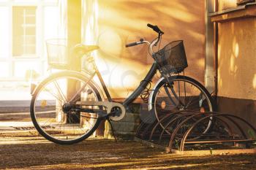
[[[45,136],[56,139],[60,142],[74,141],[82,139],[93,129],[96,123],[99,123],[97,115],[91,115],[86,112],[63,112],[63,104],[66,103],[67,85],[61,82],[75,82],[72,86],[75,91],[70,93],[73,99],[81,101],[98,101],[97,93],[89,86],[86,81],[73,79],[72,77],[53,78],[42,86],[42,90],[37,94],[34,103],[34,115],[37,125]],[[79,87],[79,88],[78,88]],[[78,89],[76,89],[78,88]],[[88,94],[90,91],[90,94]],[[99,94],[99,93],[98,93]],[[88,115],[87,117],[83,117]]]

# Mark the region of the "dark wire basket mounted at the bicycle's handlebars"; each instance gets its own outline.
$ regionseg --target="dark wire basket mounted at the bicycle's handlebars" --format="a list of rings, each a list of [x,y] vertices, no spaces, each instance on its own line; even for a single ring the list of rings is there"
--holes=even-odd
[[[153,55],[159,65],[160,72],[164,74],[180,73],[187,68],[187,57],[182,40],[170,42]]]

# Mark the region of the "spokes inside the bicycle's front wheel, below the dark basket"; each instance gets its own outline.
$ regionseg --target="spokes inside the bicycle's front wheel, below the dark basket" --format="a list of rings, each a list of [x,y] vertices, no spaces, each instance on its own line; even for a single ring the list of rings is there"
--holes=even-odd
[[[169,84],[166,85],[166,82],[159,84],[159,87],[156,88],[157,91],[154,92],[156,94],[153,100],[153,105],[158,121],[161,120],[162,115],[170,114],[172,112],[201,112],[202,107],[207,111],[212,110],[211,101],[207,99],[208,96],[206,96],[206,93],[203,93],[204,91],[197,86],[197,82],[189,82],[189,80],[187,81],[185,78],[174,79],[171,82],[171,86]],[[165,103],[162,105],[162,102]],[[184,134],[196,120],[197,118],[195,118],[195,120],[189,120],[182,125],[178,133],[181,135]],[[171,127],[175,127],[182,121],[182,119],[176,120]],[[164,129],[165,121],[162,121],[159,125]],[[197,132],[197,134],[206,133],[210,125],[211,120],[208,120],[206,123],[200,125],[200,128],[195,128],[194,131]]]

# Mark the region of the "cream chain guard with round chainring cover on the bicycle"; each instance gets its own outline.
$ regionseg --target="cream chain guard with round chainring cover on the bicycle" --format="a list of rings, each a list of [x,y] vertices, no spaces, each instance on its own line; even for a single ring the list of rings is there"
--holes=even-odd
[[[126,110],[122,104],[116,102],[107,101],[77,101],[75,104],[81,106],[102,106],[106,108],[107,115],[109,115],[110,120],[119,121],[125,116]],[[115,109],[118,109],[118,114],[114,114]]]

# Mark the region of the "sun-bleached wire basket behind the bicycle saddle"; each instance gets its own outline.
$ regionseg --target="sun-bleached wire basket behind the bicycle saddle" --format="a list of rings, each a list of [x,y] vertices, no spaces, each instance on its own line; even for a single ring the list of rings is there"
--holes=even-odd
[[[67,39],[48,39],[46,41],[48,65],[53,69],[67,69]]]

